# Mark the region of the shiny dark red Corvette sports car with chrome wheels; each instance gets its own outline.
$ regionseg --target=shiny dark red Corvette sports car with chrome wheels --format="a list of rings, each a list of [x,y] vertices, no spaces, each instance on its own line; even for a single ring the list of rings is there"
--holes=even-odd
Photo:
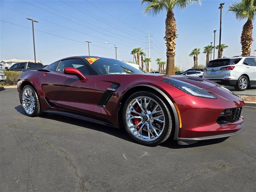
[[[58,60],[18,78],[28,116],[61,114],[116,128],[136,142],[179,144],[229,137],[244,130],[244,101],[209,80],[146,74],[124,62],[94,56]]]

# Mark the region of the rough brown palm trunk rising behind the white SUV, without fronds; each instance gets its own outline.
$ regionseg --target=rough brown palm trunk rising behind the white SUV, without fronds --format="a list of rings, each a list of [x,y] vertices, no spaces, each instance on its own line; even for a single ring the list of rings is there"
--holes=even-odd
[[[248,19],[243,26],[241,35],[242,56],[250,56],[252,47],[252,20]]]

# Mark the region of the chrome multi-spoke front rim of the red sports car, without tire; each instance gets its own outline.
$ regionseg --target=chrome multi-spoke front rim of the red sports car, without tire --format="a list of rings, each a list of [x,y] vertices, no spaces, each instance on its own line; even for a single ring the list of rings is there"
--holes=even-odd
[[[164,111],[156,100],[147,96],[136,97],[126,109],[126,126],[140,140],[156,140],[164,131]]]

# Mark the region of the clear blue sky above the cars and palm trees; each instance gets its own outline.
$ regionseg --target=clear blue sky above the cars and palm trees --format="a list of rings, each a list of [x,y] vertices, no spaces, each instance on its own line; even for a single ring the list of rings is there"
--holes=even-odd
[[[152,36],[152,60],[158,57],[166,60],[163,40],[166,12],[156,17],[147,16],[142,13],[144,6],[141,6],[140,2],[140,0],[1,0],[0,19],[21,26],[0,22],[0,60],[34,59],[30,29],[32,24],[31,21],[26,20],[27,17],[38,20],[39,23],[35,23],[34,27],[43,31],[35,31],[35,39],[37,60],[42,60],[44,64],[50,64],[67,56],[87,55],[88,48],[84,43],[86,40],[92,42],[91,55],[114,58],[114,46],[104,44],[104,42],[112,42],[118,47],[119,60],[132,61],[130,55],[132,48],[140,46],[148,53],[146,49],[148,44],[145,43],[148,41],[145,37],[148,32]],[[192,4],[186,10],[174,10],[178,28],[176,65],[181,61],[182,67],[192,67],[193,58],[188,57],[188,54],[193,48],[203,50],[204,46],[213,42],[215,29],[216,44],[218,44],[220,2],[225,3],[222,15],[222,43],[229,46],[224,50],[224,56],[241,54],[240,35],[246,20],[236,20],[234,14],[227,12],[228,6],[234,1],[202,0],[201,6]],[[255,29],[254,20],[254,40]],[[256,49],[255,41],[252,44],[252,50],[254,49]],[[251,54],[256,55],[253,51]],[[205,64],[205,60],[206,55],[200,54],[199,64]],[[152,66],[154,69],[157,68],[155,62],[152,62]]]

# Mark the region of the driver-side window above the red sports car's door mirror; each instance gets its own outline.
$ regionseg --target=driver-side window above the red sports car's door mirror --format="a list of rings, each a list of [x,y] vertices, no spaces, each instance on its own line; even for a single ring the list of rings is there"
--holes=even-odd
[[[83,75],[89,74],[85,64],[83,64],[79,59],[68,59],[62,61],[57,69],[57,72],[63,73],[65,67],[77,68]]]

